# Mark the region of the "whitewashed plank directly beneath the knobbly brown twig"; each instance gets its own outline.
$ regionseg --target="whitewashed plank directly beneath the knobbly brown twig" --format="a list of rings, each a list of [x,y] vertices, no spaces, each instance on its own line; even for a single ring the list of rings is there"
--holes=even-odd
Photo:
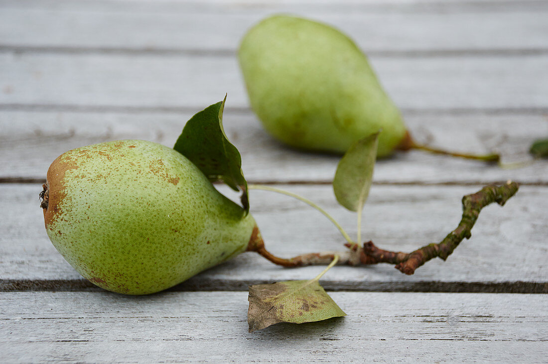
[[[330,186],[282,188],[316,201],[332,213],[351,236],[356,235],[355,214],[336,204]],[[364,211],[363,239],[371,239],[384,249],[396,251],[412,251],[440,241],[460,221],[463,195],[478,189],[479,186],[373,186]],[[40,191],[38,184],[0,184],[0,201],[4,206],[0,216],[0,231],[3,232],[0,235],[0,279],[4,290],[16,288],[9,283],[12,280],[81,279],[55,251],[45,234],[38,201]],[[222,191],[227,192],[227,189],[222,188]],[[338,230],[300,201],[252,190],[250,203],[267,249],[278,256],[292,257],[342,248],[344,239]],[[334,267],[325,277],[327,287],[454,291],[459,289],[460,282],[488,285],[523,281],[540,284],[538,289],[546,290],[542,285],[548,282],[547,204],[548,188],[523,186],[504,207],[493,205],[484,209],[472,231],[472,238],[463,241],[446,262],[435,259],[412,276],[401,274],[389,264]],[[193,278],[185,287],[242,289],[249,282],[311,278],[321,269],[284,269],[255,253],[243,253]],[[441,288],[436,288],[438,283]],[[42,285],[45,287],[48,282]],[[56,283],[49,285],[55,287]]]

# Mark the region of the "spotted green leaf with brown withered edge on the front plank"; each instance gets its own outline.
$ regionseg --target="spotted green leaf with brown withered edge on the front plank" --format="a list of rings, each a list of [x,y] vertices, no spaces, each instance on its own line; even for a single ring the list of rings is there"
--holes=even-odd
[[[317,279],[249,287],[249,332],[278,322],[303,323],[346,316]]]

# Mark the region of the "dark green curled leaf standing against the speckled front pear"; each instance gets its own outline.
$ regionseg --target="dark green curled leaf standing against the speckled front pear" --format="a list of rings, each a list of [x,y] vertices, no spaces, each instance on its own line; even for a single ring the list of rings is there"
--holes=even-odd
[[[222,128],[225,99],[194,115],[182,129],[173,149],[194,163],[209,181],[223,181],[241,190],[243,209],[249,212],[247,181],[242,173],[242,157]]]

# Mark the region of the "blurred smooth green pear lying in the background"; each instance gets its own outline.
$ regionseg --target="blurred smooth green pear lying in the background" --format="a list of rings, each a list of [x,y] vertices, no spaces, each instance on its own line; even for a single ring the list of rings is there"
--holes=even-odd
[[[333,27],[272,16],[249,30],[238,57],[253,110],[290,146],[344,153],[382,128],[383,157],[406,136],[366,55]]]

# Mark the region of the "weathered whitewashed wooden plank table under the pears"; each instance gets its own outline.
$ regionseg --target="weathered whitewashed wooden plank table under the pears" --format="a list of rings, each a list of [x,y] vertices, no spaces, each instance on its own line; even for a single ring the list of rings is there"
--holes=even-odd
[[[390,265],[335,267],[324,287],[348,316],[248,333],[247,286],[308,279],[243,254],[169,292],[126,297],[83,280],[55,251],[38,193],[49,164],[90,143],[172,146],[182,126],[228,93],[227,135],[251,182],[336,204],[338,157],[273,141],[248,108],[235,51],[276,12],[329,22],[370,55],[420,141],[527,159],[548,137],[548,2],[0,2],[0,361],[548,361],[548,163],[501,169],[398,154],[379,161],[363,236],[391,250],[439,241],[460,199],[513,179],[504,208],[482,212],[447,262],[413,276]],[[280,256],[332,250],[336,228],[299,201],[252,191],[252,212]]]

